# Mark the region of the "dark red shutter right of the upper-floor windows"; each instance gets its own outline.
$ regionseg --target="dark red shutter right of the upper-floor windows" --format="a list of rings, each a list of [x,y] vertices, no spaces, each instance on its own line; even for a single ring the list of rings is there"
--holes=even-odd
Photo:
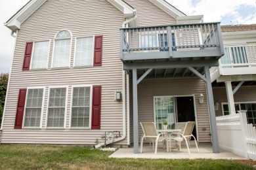
[[[93,66],[102,65],[102,35],[95,36],[95,57],[93,61]]]

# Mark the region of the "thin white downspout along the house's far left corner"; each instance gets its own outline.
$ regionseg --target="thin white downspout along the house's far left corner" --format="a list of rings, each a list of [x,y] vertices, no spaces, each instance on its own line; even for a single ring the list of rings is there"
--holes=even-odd
[[[15,38],[14,47],[13,47],[13,54],[12,54],[12,65],[13,65],[13,59],[14,59],[14,52],[15,52],[15,46],[16,46],[16,41],[17,41],[17,35],[18,35],[18,29],[16,30],[16,35],[14,35],[14,31],[11,31],[11,36]],[[11,69],[9,71],[7,90],[6,90],[6,94],[5,94],[5,106],[3,107],[3,118],[2,118],[1,127],[0,127],[0,129],[2,129],[2,130],[3,130],[3,120],[5,119],[5,109],[6,109],[6,105],[7,105],[7,97],[8,97],[8,92],[9,92],[9,84],[10,84],[10,79],[11,79],[11,72],[12,72],[12,67],[11,67]],[[2,133],[3,133],[3,131],[2,131]],[[3,137],[1,137],[1,139],[3,139]],[[1,143],[1,141],[0,141],[0,143]]]

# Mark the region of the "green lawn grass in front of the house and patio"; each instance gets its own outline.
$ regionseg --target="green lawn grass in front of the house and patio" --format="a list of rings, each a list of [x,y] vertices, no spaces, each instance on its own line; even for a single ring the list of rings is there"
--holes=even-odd
[[[232,160],[108,158],[82,146],[0,144],[0,169],[253,169]]]

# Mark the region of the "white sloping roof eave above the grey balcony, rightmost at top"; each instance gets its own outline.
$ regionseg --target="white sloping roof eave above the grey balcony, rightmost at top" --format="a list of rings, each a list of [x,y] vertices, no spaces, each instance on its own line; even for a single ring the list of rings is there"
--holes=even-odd
[[[177,18],[177,16],[186,16],[184,13],[182,13],[180,10],[176,9],[169,3],[167,3],[165,0],[148,0],[154,5],[156,5],[161,10],[165,11],[170,16],[173,16],[173,18]]]

